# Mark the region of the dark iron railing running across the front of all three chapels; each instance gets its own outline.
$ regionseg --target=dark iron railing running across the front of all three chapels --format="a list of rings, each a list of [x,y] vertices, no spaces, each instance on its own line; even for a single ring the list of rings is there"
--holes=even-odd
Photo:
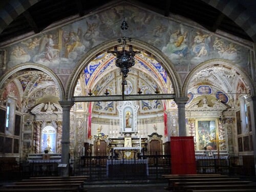
[[[118,161],[118,162],[117,162]],[[70,175],[90,176],[91,180],[129,178],[161,179],[171,174],[169,155],[143,155],[131,160],[115,160],[110,156],[73,156]],[[255,177],[253,156],[232,156],[227,159],[197,159],[197,173],[221,173],[229,176]],[[0,161],[0,180],[20,180],[32,176],[59,176],[58,163],[49,161]]]

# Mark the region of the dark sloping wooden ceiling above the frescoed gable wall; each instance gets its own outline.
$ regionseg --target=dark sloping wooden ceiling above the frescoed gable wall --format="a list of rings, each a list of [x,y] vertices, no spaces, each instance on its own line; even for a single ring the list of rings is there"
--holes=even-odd
[[[18,15],[0,34],[0,42],[34,31],[39,33],[58,20],[72,15],[83,16],[112,1],[41,0]],[[201,0],[132,1],[164,16],[178,14],[194,20],[204,28],[217,29],[253,41],[246,32],[218,9]],[[0,7],[1,8],[1,7]]]

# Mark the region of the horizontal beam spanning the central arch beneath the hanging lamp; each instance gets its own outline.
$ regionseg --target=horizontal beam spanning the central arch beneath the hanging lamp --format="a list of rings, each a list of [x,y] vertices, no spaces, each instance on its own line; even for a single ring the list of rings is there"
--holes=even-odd
[[[93,102],[93,101],[129,101],[129,100],[165,100],[175,99],[175,94],[155,94],[155,95],[108,95],[108,96],[74,96],[74,102]]]

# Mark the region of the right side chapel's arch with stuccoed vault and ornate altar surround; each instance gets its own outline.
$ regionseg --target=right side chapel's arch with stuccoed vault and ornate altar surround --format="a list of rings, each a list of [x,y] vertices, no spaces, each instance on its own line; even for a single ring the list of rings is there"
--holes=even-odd
[[[218,139],[223,140],[219,142],[220,149],[230,154],[239,153],[234,150],[239,148],[239,138],[248,136],[251,140],[250,150],[243,150],[242,153],[253,155],[255,126],[252,123],[254,113],[251,98],[255,95],[255,87],[251,77],[241,67],[225,59],[203,62],[187,76],[183,93],[189,97],[186,118],[189,135],[195,136],[196,150],[203,150],[198,144],[200,124],[210,119],[217,124]],[[251,122],[245,123],[248,117]]]

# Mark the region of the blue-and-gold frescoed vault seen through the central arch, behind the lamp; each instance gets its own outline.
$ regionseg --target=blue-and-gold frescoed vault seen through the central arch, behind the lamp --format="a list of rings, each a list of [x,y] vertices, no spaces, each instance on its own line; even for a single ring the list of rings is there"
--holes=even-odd
[[[106,52],[93,59],[84,69],[83,75],[81,75],[81,78],[84,79],[78,81],[76,90],[86,90],[84,92],[86,96],[90,91],[93,95],[104,95],[106,90],[110,95],[121,95],[122,75],[120,69],[115,66],[115,59],[115,56]],[[127,85],[124,86],[126,95],[138,94],[139,90],[142,94],[155,94],[156,89],[160,93],[172,92],[172,84],[161,63],[145,52],[135,56],[135,66],[130,68],[126,81]],[[80,91],[75,92],[75,96],[81,95]],[[163,103],[160,100],[137,101],[137,104],[139,105],[139,115],[163,112]],[[93,113],[118,116],[117,105],[118,102],[113,101],[95,102]]]

